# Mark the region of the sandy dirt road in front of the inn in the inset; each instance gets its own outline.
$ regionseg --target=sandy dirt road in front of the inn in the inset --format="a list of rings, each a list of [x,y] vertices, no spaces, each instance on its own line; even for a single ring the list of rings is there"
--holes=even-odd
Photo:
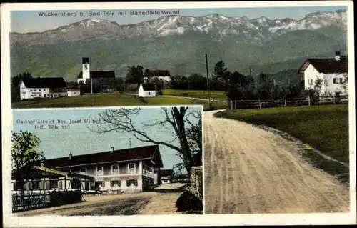
[[[176,212],[175,202],[181,192],[104,195],[85,197],[86,202],[61,207],[36,209],[15,213],[16,216],[37,215],[133,215],[133,214],[181,214]]]

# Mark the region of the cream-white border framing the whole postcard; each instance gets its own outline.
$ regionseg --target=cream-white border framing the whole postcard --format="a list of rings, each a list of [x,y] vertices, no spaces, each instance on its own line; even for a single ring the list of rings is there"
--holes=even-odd
[[[145,6],[145,7],[143,7]],[[208,214],[208,215],[156,215],[108,217],[16,217],[11,213],[11,187],[9,170],[11,158],[12,111],[10,105],[10,11],[65,10],[65,9],[178,9],[178,8],[230,8],[276,6],[348,6],[348,71],[349,138],[350,138],[350,212],[334,214]],[[239,224],[356,224],[356,113],[354,78],[354,27],[353,1],[249,1],[249,2],[162,2],[155,3],[61,3],[61,4],[1,4],[1,101],[2,101],[2,151],[3,151],[3,217],[5,227],[137,227],[184,225],[239,225]],[[112,108],[112,107],[110,107]],[[88,107],[87,109],[91,109]],[[5,153],[4,153],[5,152]],[[204,154],[204,152],[203,152]]]

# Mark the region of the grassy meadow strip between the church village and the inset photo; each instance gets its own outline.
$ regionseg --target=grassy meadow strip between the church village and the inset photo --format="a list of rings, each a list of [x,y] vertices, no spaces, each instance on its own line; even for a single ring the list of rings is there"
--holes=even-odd
[[[65,108],[86,106],[141,106],[141,105],[203,105],[208,109],[207,101],[195,101],[181,97],[147,97],[139,99],[134,95],[123,94],[87,94],[83,96],[60,97],[56,99],[39,99],[32,101],[16,101],[13,109]],[[224,109],[226,104],[213,102],[212,109]]]

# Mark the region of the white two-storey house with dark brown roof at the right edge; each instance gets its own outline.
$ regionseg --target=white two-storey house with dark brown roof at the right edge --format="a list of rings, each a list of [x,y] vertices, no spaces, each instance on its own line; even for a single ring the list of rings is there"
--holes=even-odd
[[[348,74],[348,61],[340,51],[336,51],[335,58],[306,59],[298,74],[304,74],[306,90],[313,89],[316,79],[321,79],[321,94],[346,94],[341,85],[345,81],[344,75]]]

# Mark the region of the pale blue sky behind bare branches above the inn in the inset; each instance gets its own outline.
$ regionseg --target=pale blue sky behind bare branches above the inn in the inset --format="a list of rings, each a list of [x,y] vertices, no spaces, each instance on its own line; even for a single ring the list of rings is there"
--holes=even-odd
[[[190,108],[201,111],[199,107]],[[96,134],[91,132],[89,128],[95,128],[96,124],[85,124],[84,119],[96,119],[98,114],[106,111],[106,109],[89,109],[89,110],[31,110],[21,111],[13,109],[14,116],[14,132],[28,131],[36,134],[41,139],[41,144],[37,151],[44,152],[47,159],[56,157],[65,157],[71,152],[73,155],[91,154],[96,152],[105,152],[114,149],[129,148],[129,139],[131,139],[131,147],[141,147],[151,145],[148,142],[140,142],[131,134],[121,132],[109,132],[105,134]],[[160,108],[141,109],[138,116],[133,116],[132,121],[137,129],[142,129],[142,124],[153,123],[158,119],[162,119],[164,115]],[[48,120],[58,119],[64,120],[66,124],[56,124],[60,129],[49,129],[49,124],[21,124],[20,120]],[[70,119],[82,119],[79,124],[69,124],[70,129],[61,129],[61,125],[68,125]],[[193,119],[194,120],[194,119]],[[44,125],[46,129],[35,129],[35,125]],[[167,125],[166,125],[167,126]],[[150,127],[146,129],[154,140],[169,142],[174,139],[171,132],[164,127]],[[172,144],[179,145],[178,140]],[[174,164],[181,162],[181,159],[176,156],[176,151],[166,146],[159,146],[161,158],[166,169],[171,168]]]

